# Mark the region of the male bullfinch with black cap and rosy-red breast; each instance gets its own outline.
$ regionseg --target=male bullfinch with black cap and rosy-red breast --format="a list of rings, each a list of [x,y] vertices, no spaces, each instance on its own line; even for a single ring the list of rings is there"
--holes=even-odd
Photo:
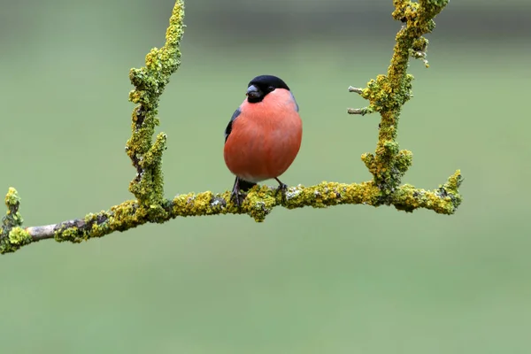
[[[303,138],[298,104],[286,82],[272,75],[257,76],[246,96],[225,129],[223,150],[225,164],[236,176],[231,199],[238,206],[240,191],[259,181],[274,179],[285,193],[287,186],[278,177],[295,160]]]

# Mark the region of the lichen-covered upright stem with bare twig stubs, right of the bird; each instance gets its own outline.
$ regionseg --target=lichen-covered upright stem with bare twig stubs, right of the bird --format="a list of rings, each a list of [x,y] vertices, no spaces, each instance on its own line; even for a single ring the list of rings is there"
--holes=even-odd
[[[393,4],[393,17],[404,25],[396,35],[388,73],[369,81],[365,89],[350,86],[349,92],[358,93],[369,101],[369,105],[347,110],[350,114],[379,112],[381,115],[376,151],[363,154],[361,159],[373,174],[374,183],[381,190],[383,204],[396,203],[402,177],[412,165],[412,152],[400,150],[396,141],[402,106],[412,97],[413,76],[407,73],[409,58],[422,59],[427,65],[427,39],[423,35],[435,28],[434,18],[448,4],[448,0],[420,0],[419,3],[394,0]],[[457,208],[461,198],[458,197],[455,202]]]

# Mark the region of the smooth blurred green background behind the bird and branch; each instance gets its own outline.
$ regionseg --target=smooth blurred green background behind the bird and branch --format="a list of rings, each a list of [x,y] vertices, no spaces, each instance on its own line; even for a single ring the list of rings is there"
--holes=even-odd
[[[131,198],[130,67],[164,42],[171,0],[0,1],[0,189],[27,226]],[[379,116],[349,116],[384,73],[390,0],[196,0],[162,96],[167,196],[233,177],[223,130],[261,73],[285,79],[304,142],[291,185],[366,181]],[[452,1],[413,61],[404,182],[460,168],[456,215],[345,205],[174,219],[0,257],[3,353],[529,353],[531,3]],[[526,86],[524,86],[527,84]],[[215,93],[215,94],[213,94]],[[273,183],[272,183],[273,184]]]

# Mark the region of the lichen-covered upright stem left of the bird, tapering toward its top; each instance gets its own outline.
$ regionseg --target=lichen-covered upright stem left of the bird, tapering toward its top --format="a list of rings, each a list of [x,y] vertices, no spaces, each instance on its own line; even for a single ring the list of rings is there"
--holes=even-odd
[[[164,178],[162,153],[165,150],[166,135],[160,133],[155,142],[155,127],[159,120],[158,103],[172,73],[181,65],[179,46],[184,33],[184,4],[175,2],[169,27],[166,30],[165,45],[153,48],[146,55],[145,66],[133,68],[129,79],[135,89],[129,93],[129,100],[135,104],[132,115],[132,135],[127,141],[127,156],[131,158],[137,175],[129,183],[129,190],[135,195],[142,208],[153,219],[165,219]]]

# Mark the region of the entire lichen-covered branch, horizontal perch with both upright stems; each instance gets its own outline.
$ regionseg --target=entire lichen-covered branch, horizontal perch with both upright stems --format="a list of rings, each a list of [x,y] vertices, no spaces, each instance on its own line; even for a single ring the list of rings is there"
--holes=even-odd
[[[21,246],[54,238],[58,242],[81,242],[95,237],[126,231],[145,223],[162,223],[187,216],[248,214],[258,222],[264,221],[274,207],[288,209],[312,206],[324,208],[338,204],[367,204],[375,207],[394,205],[397,210],[412,212],[424,208],[441,214],[453,214],[461,196],[458,193],[461,173],[454,173],[438,189],[416,189],[401,185],[402,177],[412,165],[412,152],[400,150],[396,142],[398,119],[402,106],[412,97],[412,75],[407,73],[409,58],[419,58],[427,65],[427,40],[422,36],[435,28],[433,19],[448,0],[420,0],[419,4],[395,0],[393,17],[404,22],[396,35],[396,45],[386,75],[369,81],[365,89],[350,87],[350,92],[369,101],[364,108],[349,109],[351,114],[365,115],[379,112],[380,133],[376,151],[362,155],[373,173],[373,181],[362,183],[322,182],[319,185],[290,187],[285,196],[266,186],[250,189],[241,207],[230,200],[230,192],[213,194],[210,191],[175,196],[166,199],[162,175],[162,153],[166,135],[155,139],[158,125],[157,110],[160,95],[170,75],[180,65],[184,25],[184,4],[177,0],[173,7],[166,42],[161,49],[153,49],[146,56],[146,65],[131,69],[129,78],[135,89],[129,99],[137,104],[132,117],[132,135],[127,141],[127,155],[136,169],[129,185],[135,200],[113,206],[108,211],[89,213],[73,219],[42,227],[22,227],[19,213],[20,198],[15,189],[5,196],[7,212],[0,227],[0,253],[19,250]]]

